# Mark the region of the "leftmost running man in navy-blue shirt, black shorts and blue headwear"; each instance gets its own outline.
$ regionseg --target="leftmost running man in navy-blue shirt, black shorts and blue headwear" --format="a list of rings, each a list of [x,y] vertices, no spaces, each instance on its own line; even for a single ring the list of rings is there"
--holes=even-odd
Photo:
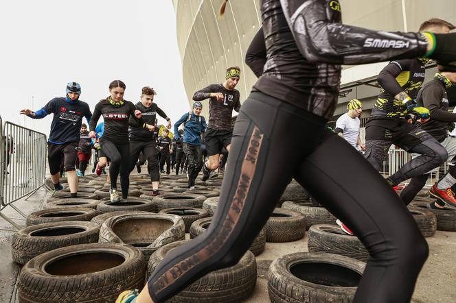
[[[60,185],[60,163],[65,163],[68,185],[71,197],[77,197],[78,175],[76,175],[75,162],[78,158],[78,144],[80,141],[80,129],[82,117],[89,123],[92,113],[89,104],[80,101],[81,86],[76,82],[67,84],[67,96],[54,98],[41,110],[21,110],[32,119],[43,119],[48,114],[54,114],[51,132],[47,142],[47,160],[51,172],[52,183],[56,191],[63,189]]]

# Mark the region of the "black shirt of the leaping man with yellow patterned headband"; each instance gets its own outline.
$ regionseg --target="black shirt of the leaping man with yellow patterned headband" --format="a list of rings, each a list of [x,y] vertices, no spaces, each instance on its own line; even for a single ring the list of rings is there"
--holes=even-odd
[[[223,93],[223,100],[217,101],[216,97],[209,97],[210,93]],[[195,101],[209,98],[209,123],[207,128],[213,130],[231,130],[231,114],[233,110],[240,110],[239,90],[229,90],[222,84],[211,84],[193,95]]]

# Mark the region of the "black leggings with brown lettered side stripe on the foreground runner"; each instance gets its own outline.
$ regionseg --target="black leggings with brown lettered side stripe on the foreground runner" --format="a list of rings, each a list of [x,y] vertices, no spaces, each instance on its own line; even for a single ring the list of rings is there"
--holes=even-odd
[[[292,178],[369,251],[354,302],[409,302],[427,243],[378,171],[326,130],[321,117],[251,93],[233,130],[228,163],[207,232],[169,252],[150,276],[154,302],[164,302],[209,271],[236,264]]]

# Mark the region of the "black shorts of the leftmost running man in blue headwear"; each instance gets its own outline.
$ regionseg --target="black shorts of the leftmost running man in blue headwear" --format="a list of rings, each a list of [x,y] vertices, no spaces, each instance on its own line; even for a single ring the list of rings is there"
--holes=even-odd
[[[76,159],[78,158],[78,142],[65,144],[47,143],[47,160],[49,162],[49,172],[55,175],[60,171],[62,159],[65,171],[74,171]]]

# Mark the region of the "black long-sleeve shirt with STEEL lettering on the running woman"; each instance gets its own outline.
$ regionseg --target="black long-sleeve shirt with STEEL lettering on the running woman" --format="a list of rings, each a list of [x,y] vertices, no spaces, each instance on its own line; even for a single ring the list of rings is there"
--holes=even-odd
[[[122,106],[113,106],[108,99],[103,99],[95,106],[92,119],[90,121],[90,129],[95,130],[98,119],[103,115],[104,119],[104,140],[111,141],[115,144],[128,143],[128,120],[130,116],[135,117],[135,106],[130,101],[124,101]],[[139,125],[146,127],[146,123],[142,118],[136,119]]]

